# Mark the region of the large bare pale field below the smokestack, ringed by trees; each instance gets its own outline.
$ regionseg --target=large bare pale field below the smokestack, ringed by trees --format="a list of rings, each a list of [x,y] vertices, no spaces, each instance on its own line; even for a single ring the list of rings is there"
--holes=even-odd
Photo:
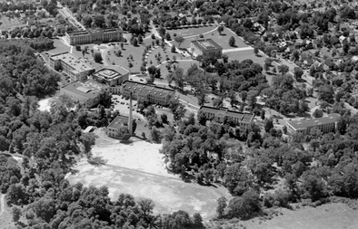
[[[107,138],[103,129],[96,129],[94,133],[100,137],[92,149],[93,157],[101,157],[105,165],[94,167],[83,158],[75,167],[78,173],[66,176],[72,184],[108,186],[112,199],[121,193],[151,198],[155,213],[182,209],[191,215],[200,212],[204,220],[215,215],[219,197],[229,198],[224,188],[185,183],[180,177],[168,174],[163,155],[159,153],[161,144],[132,138],[132,144],[124,145]]]

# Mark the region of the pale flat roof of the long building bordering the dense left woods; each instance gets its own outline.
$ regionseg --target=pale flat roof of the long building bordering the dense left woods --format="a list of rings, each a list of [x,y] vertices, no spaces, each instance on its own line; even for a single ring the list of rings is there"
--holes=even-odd
[[[62,52],[51,55],[50,58],[54,61],[61,60],[72,67],[72,72],[79,73],[94,70],[94,67],[87,64],[83,59],[75,57],[70,52]]]

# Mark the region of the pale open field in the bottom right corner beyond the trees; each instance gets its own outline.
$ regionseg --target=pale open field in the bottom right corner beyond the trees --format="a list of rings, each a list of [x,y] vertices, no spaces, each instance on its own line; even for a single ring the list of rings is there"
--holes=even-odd
[[[282,209],[283,215],[274,216],[272,220],[241,221],[240,224],[250,229],[336,229],[358,228],[358,210],[348,205],[333,203],[316,208],[306,207],[298,210]],[[261,223],[260,223],[261,222]]]

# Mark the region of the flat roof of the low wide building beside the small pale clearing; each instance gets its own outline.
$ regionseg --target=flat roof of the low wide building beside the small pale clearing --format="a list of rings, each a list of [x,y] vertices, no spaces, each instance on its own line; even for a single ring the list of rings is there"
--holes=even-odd
[[[86,99],[95,98],[101,90],[109,88],[103,83],[99,83],[93,80],[88,80],[85,82],[74,81],[65,85],[62,89],[66,91],[71,91],[78,96],[81,96]]]

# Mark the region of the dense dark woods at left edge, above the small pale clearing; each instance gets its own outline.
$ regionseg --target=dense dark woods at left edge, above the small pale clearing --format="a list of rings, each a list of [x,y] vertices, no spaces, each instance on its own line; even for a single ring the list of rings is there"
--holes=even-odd
[[[3,103],[16,93],[38,96],[57,90],[59,75],[49,71],[28,44],[13,41],[1,41],[1,44],[0,98]]]

